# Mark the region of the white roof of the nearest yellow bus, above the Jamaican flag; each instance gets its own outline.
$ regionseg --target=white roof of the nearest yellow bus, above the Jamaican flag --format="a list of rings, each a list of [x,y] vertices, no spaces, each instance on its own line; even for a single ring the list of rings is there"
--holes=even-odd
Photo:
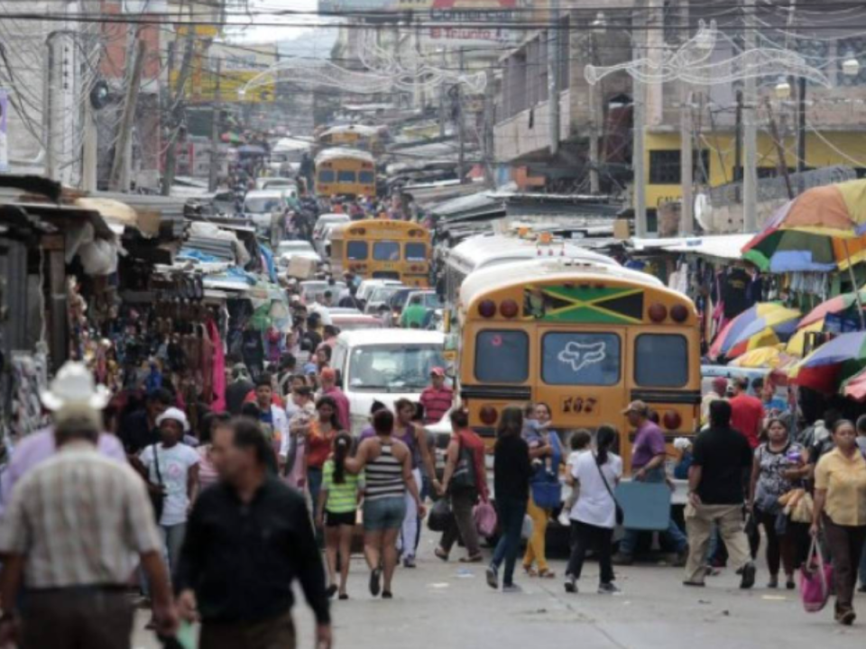
[[[460,302],[464,306],[468,306],[475,297],[492,290],[515,285],[522,286],[539,280],[573,282],[576,276],[581,279],[624,279],[634,284],[643,284],[648,288],[669,290],[660,279],[640,270],[631,270],[604,263],[585,263],[567,259],[539,259],[518,261],[474,272],[464,280],[463,286],[460,287]],[[683,297],[686,298],[686,296]]]

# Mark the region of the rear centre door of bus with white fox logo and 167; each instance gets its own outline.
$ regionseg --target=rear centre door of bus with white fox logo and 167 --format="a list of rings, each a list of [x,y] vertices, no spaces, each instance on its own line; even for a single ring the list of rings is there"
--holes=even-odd
[[[550,407],[554,427],[571,431],[620,425],[629,401],[626,327],[542,326],[538,333],[535,398]]]

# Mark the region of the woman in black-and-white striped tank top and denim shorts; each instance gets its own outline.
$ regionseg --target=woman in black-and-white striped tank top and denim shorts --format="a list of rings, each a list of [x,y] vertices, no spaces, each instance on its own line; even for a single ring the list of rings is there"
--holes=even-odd
[[[419,516],[425,515],[419,497],[419,485],[412,476],[412,453],[405,443],[392,436],[394,415],[380,410],[373,416],[375,437],[365,439],[355,458],[346,459],[350,473],[364,471],[364,556],[370,566],[370,593],[382,591],[382,598],[391,599],[391,582],[397,566],[397,535],[406,515],[407,489],[418,506]],[[382,569],[380,569],[382,565]],[[382,578],[384,583],[382,584]]]

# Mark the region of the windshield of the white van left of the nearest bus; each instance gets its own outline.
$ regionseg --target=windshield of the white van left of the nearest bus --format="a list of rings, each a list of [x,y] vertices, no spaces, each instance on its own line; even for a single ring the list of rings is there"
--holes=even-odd
[[[420,392],[430,382],[430,370],[446,364],[442,350],[441,344],[357,347],[347,385],[356,392]]]

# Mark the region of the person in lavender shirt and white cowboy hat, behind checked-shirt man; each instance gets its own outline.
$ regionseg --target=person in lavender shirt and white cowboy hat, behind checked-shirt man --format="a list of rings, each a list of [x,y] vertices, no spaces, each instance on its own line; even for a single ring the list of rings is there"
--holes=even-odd
[[[43,391],[40,398],[42,406],[51,412],[57,412],[63,407],[77,406],[99,411],[108,405],[110,394],[105,386],[96,385],[93,375],[83,363],[69,361],[60,368],[51,381],[51,388]],[[9,467],[3,475],[0,513],[12,495],[15,484],[38,464],[50,459],[56,450],[53,426],[29,434],[15,444]],[[126,463],[124,445],[113,434],[100,433],[97,450],[112,460]]]

